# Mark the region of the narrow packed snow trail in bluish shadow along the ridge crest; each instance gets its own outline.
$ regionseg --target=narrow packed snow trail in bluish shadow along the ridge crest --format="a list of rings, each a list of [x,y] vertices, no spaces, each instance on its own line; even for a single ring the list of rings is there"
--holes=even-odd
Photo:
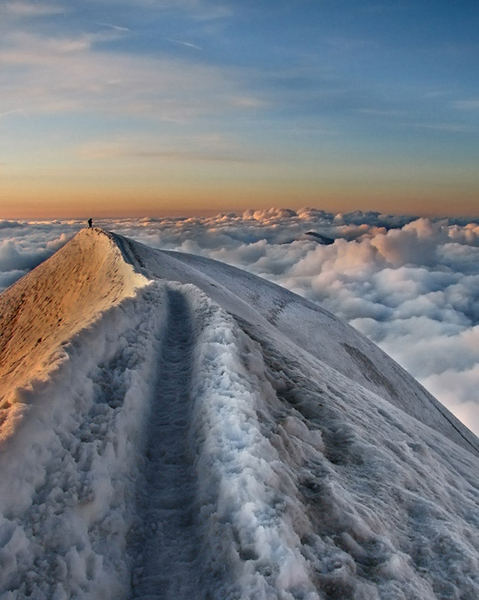
[[[135,600],[200,598],[196,478],[188,447],[194,332],[179,290],[168,291],[168,323],[149,415],[144,484],[138,497]]]

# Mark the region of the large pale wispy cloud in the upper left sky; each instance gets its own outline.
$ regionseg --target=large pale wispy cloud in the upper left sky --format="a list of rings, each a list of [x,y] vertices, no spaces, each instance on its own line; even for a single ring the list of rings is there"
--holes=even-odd
[[[77,36],[5,33],[2,112],[141,115],[186,122],[259,108],[231,70],[182,59],[108,50],[127,33]]]

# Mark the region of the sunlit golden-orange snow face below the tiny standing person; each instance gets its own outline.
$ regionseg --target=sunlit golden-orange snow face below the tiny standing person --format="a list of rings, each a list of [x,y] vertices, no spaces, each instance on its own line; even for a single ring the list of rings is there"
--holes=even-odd
[[[0,295],[0,389],[45,375],[52,352],[146,283],[111,238],[81,231]]]

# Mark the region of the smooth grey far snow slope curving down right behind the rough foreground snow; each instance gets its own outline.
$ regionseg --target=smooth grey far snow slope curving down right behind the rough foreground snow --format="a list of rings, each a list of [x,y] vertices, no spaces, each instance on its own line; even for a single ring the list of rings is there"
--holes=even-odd
[[[479,455],[479,440],[375,344],[317,304],[212,259],[165,252],[111,234],[125,260],[148,277],[193,283],[248,331],[286,337],[356,383]]]

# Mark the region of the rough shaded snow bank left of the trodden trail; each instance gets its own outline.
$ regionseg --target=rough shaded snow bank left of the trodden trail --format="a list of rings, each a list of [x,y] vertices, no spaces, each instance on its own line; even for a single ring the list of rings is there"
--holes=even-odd
[[[147,288],[111,308],[18,392],[0,454],[5,598],[124,597],[161,306]]]

